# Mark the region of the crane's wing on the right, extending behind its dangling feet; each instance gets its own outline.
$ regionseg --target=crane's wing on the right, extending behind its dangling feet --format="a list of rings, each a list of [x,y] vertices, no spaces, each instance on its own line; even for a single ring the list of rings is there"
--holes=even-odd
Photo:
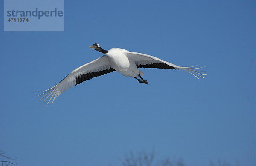
[[[159,69],[185,70],[185,71],[189,72],[190,74],[194,75],[195,77],[197,77],[198,79],[199,79],[199,77],[205,78],[203,76],[207,75],[207,74],[203,74],[206,72],[197,71],[197,69],[201,69],[203,67],[199,67],[199,68],[194,68],[195,66],[180,67],[175,64],[161,60],[157,57],[147,55],[147,54],[138,53],[138,52],[127,52],[126,54],[127,54],[126,56],[128,58],[135,61],[138,68],[159,68]]]

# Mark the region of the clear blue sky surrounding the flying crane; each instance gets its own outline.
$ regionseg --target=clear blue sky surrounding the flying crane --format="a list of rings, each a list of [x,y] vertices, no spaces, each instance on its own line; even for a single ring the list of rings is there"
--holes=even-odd
[[[4,32],[1,17],[0,150],[19,166],[117,166],[125,152],[143,149],[188,166],[218,159],[255,166],[255,6],[66,0],[64,32]],[[208,75],[142,69],[145,85],[113,72],[48,106],[31,97],[102,56],[88,48],[93,43],[199,64]]]

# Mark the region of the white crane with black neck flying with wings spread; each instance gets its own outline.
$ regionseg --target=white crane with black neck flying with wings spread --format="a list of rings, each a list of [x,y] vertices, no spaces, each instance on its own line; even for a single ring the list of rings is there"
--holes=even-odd
[[[129,52],[125,49],[112,48],[107,51],[102,49],[97,43],[89,47],[95,49],[96,51],[102,52],[105,55],[89,63],[86,63],[79,68],[76,68],[57,85],[45,91],[41,91],[42,94],[39,94],[35,97],[43,95],[43,97],[39,99],[42,100],[45,98],[42,103],[44,103],[50,97],[47,104],[49,104],[52,98],[53,103],[56,97],[58,97],[65,90],[71,88],[73,85],[77,85],[86,80],[90,80],[91,78],[98,77],[114,71],[117,71],[126,77],[134,77],[136,80],[139,81],[139,83],[145,83],[147,85],[148,81],[144,80],[141,77],[144,73],[138,68],[186,70],[198,79],[205,78],[203,76],[207,75],[204,74],[206,72],[196,71],[196,69],[201,69],[202,67],[180,67],[161,60],[157,57],[153,57],[151,55],[141,54],[138,52]],[[140,79],[138,79],[137,77],[140,77]]]

